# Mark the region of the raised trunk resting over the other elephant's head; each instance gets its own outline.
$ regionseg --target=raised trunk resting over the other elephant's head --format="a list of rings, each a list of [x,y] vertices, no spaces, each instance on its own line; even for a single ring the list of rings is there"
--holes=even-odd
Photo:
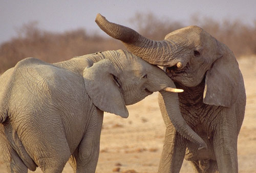
[[[130,52],[145,61],[158,66],[166,66],[168,62],[173,62],[169,66],[174,66],[177,63],[173,61],[173,56],[170,54],[170,49],[176,48],[176,46],[172,46],[170,42],[166,40],[155,41],[148,39],[131,28],[111,23],[100,14],[97,14],[95,21],[105,33],[121,40]]]

